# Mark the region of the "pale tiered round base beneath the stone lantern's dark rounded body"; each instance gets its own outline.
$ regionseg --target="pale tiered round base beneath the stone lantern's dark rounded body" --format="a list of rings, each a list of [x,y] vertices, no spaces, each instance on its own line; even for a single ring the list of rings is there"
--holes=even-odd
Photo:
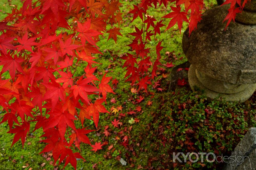
[[[193,91],[195,91],[195,87],[198,87],[204,90],[205,95],[211,99],[222,97],[227,101],[244,102],[252,96],[256,89],[256,84],[232,84],[214,79],[198,71],[192,64],[188,71],[188,81]]]

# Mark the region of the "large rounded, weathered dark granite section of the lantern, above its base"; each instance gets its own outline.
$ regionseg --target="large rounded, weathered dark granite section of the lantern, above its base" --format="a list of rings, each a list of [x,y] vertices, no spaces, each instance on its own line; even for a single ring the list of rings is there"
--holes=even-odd
[[[207,10],[190,37],[187,29],[183,34],[183,51],[196,69],[214,79],[254,84],[256,25],[231,22],[225,31],[226,22],[222,22],[228,8],[224,5]]]

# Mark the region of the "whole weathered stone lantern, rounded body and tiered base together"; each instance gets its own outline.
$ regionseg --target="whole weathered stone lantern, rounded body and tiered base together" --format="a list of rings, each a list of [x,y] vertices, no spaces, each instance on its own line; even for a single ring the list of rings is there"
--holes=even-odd
[[[188,81],[207,97],[244,102],[256,89],[256,0],[225,31],[228,6],[207,10],[197,30],[183,34],[183,51],[191,63]]]

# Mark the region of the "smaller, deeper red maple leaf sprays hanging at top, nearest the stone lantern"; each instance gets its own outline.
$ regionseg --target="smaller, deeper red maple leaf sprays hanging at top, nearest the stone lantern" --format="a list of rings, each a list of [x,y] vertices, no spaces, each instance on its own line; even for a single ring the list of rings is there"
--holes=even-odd
[[[235,19],[238,12],[241,12],[248,0],[244,1],[241,5],[239,0],[227,0],[225,4],[231,4],[229,13],[224,19],[228,20],[226,28],[228,27],[231,20]],[[250,1],[250,0],[249,0]],[[237,4],[237,5],[236,5]],[[129,14],[133,15],[133,20],[139,17],[142,21],[142,28],[135,26],[135,32],[130,33],[133,36],[132,43],[129,51],[135,51],[135,53],[127,53],[126,56],[121,57],[125,60],[123,67],[126,68],[126,75],[128,77],[126,81],[131,82],[132,85],[136,84],[138,90],[143,88],[147,92],[147,85],[151,84],[152,79],[157,76],[158,66],[161,65],[160,51],[163,49],[161,46],[162,41],[159,41],[156,45],[156,59],[152,59],[150,52],[153,51],[151,48],[147,48],[146,44],[151,41],[151,37],[157,34],[161,34],[160,29],[165,25],[162,23],[163,20],[157,21],[153,16],[148,15],[149,8],[161,8],[164,6],[168,8],[170,5],[170,12],[162,18],[169,18],[169,24],[165,31],[172,28],[176,23],[181,33],[183,22],[188,23],[189,35],[197,28],[198,22],[202,19],[202,13],[204,12],[203,0],[142,0],[137,5],[133,5],[133,9]],[[237,7],[237,8],[236,8]],[[224,22],[223,21],[223,22]],[[153,67],[152,67],[153,66]]]

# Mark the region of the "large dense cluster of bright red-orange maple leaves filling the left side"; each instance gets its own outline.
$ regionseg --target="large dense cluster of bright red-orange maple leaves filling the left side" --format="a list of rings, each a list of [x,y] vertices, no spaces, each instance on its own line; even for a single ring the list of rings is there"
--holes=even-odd
[[[8,133],[15,134],[12,146],[19,139],[24,146],[36,122],[34,131],[44,130],[41,153],[52,151],[55,163],[65,160],[64,167],[70,163],[75,169],[76,158],[84,159],[72,148],[90,144],[86,134],[93,130],[77,128],[74,121],[83,125],[90,119],[97,128],[99,114],[108,112],[102,103],[114,93],[111,77],[99,80],[94,74],[93,54],[102,54],[96,44],[104,32],[115,41],[120,35],[116,27],[106,30],[122,20],[119,6],[118,0],[25,0],[0,22],[1,123],[8,122]],[[77,76],[82,62],[87,67]],[[10,79],[4,80],[5,72]]]

